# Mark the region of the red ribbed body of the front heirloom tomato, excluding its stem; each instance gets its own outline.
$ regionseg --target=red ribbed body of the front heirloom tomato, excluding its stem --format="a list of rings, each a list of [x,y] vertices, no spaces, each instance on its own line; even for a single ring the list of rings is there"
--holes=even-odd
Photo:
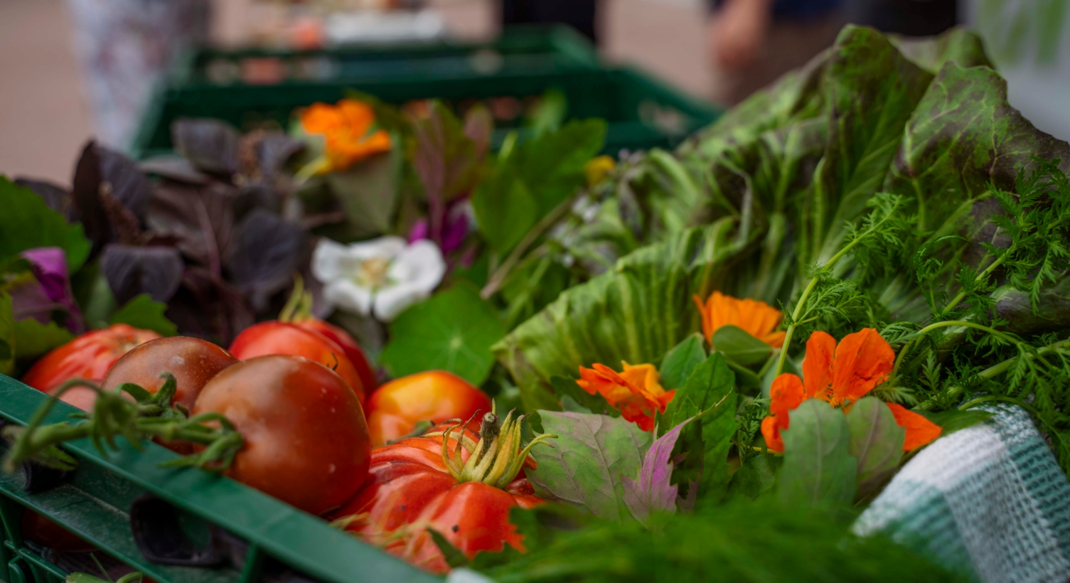
[[[450,435],[449,450],[456,446],[457,433]],[[472,431],[467,433],[478,439]],[[509,523],[509,510],[544,502],[534,494],[523,470],[504,489],[483,481],[458,484],[443,460],[442,440],[442,435],[407,438],[372,449],[367,484],[332,518],[356,517],[347,530],[433,572],[449,567],[427,528],[438,531],[469,558],[479,551],[500,552],[506,543],[523,551],[523,536]],[[511,451],[514,459],[517,455]],[[463,450],[461,458],[468,457]],[[524,465],[533,463],[526,458]]]

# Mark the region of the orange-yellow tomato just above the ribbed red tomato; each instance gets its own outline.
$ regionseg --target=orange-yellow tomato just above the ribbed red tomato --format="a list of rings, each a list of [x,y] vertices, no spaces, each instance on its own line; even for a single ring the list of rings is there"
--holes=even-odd
[[[442,370],[395,379],[368,397],[371,446],[409,434],[417,421],[435,424],[468,419],[476,411],[490,411],[490,397],[464,379]]]

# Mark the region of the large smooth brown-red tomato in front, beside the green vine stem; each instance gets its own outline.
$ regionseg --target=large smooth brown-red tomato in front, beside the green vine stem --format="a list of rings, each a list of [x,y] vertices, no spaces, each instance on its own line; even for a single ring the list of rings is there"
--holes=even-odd
[[[204,385],[192,414],[210,411],[245,439],[227,475],[302,510],[337,508],[368,476],[361,403],[318,363],[272,355],[227,367]]]

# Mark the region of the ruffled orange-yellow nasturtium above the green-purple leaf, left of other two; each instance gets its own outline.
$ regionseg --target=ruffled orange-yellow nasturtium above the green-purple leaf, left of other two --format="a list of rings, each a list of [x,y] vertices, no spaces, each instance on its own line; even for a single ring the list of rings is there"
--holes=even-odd
[[[658,369],[654,365],[621,364],[624,365],[623,372],[599,364],[593,369],[580,367],[580,380],[576,384],[591,395],[601,395],[611,406],[621,411],[622,417],[643,431],[651,431],[654,429],[654,412],[664,413],[676,389],[666,390],[661,386]]]

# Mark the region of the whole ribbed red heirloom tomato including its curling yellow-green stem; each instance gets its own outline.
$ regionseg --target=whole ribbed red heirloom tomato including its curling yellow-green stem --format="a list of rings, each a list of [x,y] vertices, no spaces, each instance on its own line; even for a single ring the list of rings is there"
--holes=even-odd
[[[509,413],[501,421],[491,412],[484,415],[478,433],[469,424],[455,423],[372,449],[367,484],[332,518],[433,572],[449,566],[428,528],[469,558],[479,551],[499,552],[506,543],[524,551],[509,510],[544,502],[522,471],[534,464],[528,458],[532,446],[555,435],[539,435],[521,448],[522,419]]]

